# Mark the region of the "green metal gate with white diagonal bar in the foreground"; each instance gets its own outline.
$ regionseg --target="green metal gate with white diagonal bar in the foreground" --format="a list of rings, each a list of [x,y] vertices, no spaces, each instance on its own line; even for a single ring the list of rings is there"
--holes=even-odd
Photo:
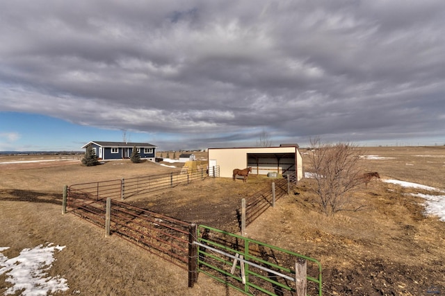
[[[204,225],[197,227],[194,243],[197,271],[242,293],[304,295],[304,286],[307,295],[322,295],[321,263],[316,259]]]

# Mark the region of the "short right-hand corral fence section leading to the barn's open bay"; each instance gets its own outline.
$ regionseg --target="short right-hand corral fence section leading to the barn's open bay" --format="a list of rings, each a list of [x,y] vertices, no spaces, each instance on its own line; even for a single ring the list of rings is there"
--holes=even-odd
[[[241,234],[245,234],[245,227],[261,216],[266,209],[275,207],[275,201],[289,194],[290,189],[289,178],[277,178],[270,183],[270,186],[264,186],[247,198],[243,198],[241,207],[236,209]]]

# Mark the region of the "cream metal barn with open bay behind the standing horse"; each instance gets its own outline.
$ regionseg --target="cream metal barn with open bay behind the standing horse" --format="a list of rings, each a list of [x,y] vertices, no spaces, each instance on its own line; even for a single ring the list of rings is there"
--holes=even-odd
[[[303,175],[302,157],[297,144],[282,144],[279,147],[254,148],[209,148],[209,171],[219,166],[220,177],[232,177],[234,168],[252,166],[254,175],[290,175],[300,180]]]

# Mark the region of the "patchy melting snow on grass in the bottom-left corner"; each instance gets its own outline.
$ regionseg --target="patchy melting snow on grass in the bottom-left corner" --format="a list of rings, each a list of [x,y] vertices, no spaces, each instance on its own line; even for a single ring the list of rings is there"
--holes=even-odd
[[[24,249],[19,256],[8,259],[2,252],[9,247],[0,247],[0,275],[6,274],[5,281],[12,284],[3,295],[48,295],[69,289],[67,279],[63,277],[47,277],[54,259],[54,251],[59,252],[65,246],[38,245],[32,249]]]

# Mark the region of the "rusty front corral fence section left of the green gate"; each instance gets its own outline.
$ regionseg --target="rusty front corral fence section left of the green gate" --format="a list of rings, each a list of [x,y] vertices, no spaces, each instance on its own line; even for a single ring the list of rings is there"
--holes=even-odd
[[[106,236],[111,232],[118,234],[152,254],[187,269],[191,223],[111,198],[90,198],[84,193],[70,193],[67,196],[70,196],[66,201],[69,211],[104,227]]]

